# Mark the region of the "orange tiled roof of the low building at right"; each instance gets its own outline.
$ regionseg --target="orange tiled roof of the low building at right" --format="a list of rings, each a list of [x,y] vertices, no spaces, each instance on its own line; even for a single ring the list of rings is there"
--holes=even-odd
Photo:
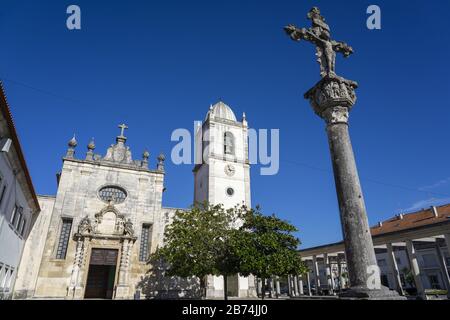
[[[432,208],[403,214],[402,218],[401,215],[397,215],[381,222],[381,225],[372,227],[372,236],[450,221],[450,204],[436,207],[436,211],[438,213],[437,217],[435,217]]]

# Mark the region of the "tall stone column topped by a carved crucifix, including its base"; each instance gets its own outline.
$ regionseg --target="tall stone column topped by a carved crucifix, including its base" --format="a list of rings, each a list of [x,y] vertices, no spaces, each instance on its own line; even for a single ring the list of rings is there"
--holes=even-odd
[[[305,99],[327,126],[350,278],[350,289],[341,297],[399,299],[397,292],[374,286],[375,277],[379,280],[380,274],[348,130],[349,113],[356,103],[358,84],[337,76],[334,69],[336,52],[348,56],[353,49],[343,42],[331,40],[330,28],[318,8],[312,8],[308,18],[313,22],[312,28],[297,29],[290,25],[285,31],[292,39],[311,41],[317,47],[322,79],[305,94]]]

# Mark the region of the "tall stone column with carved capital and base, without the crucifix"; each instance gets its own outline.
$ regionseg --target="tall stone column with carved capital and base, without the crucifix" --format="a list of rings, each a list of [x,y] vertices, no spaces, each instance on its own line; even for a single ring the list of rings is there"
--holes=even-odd
[[[349,112],[356,102],[357,87],[354,81],[326,76],[305,94],[314,112],[327,124],[350,278],[350,289],[341,297],[397,299],[400,296],[395,291],[383,286],[371,287],[374,270],[379,269],[348,131]]]

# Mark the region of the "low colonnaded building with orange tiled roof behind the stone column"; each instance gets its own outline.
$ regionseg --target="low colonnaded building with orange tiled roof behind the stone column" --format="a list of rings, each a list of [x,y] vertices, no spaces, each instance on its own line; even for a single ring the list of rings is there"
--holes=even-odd
[[[401,295],[450,292],[450,204],[400,214],[371,228],[381,283]],[[342,242],[300,251],[314,294],[348,287]]]

